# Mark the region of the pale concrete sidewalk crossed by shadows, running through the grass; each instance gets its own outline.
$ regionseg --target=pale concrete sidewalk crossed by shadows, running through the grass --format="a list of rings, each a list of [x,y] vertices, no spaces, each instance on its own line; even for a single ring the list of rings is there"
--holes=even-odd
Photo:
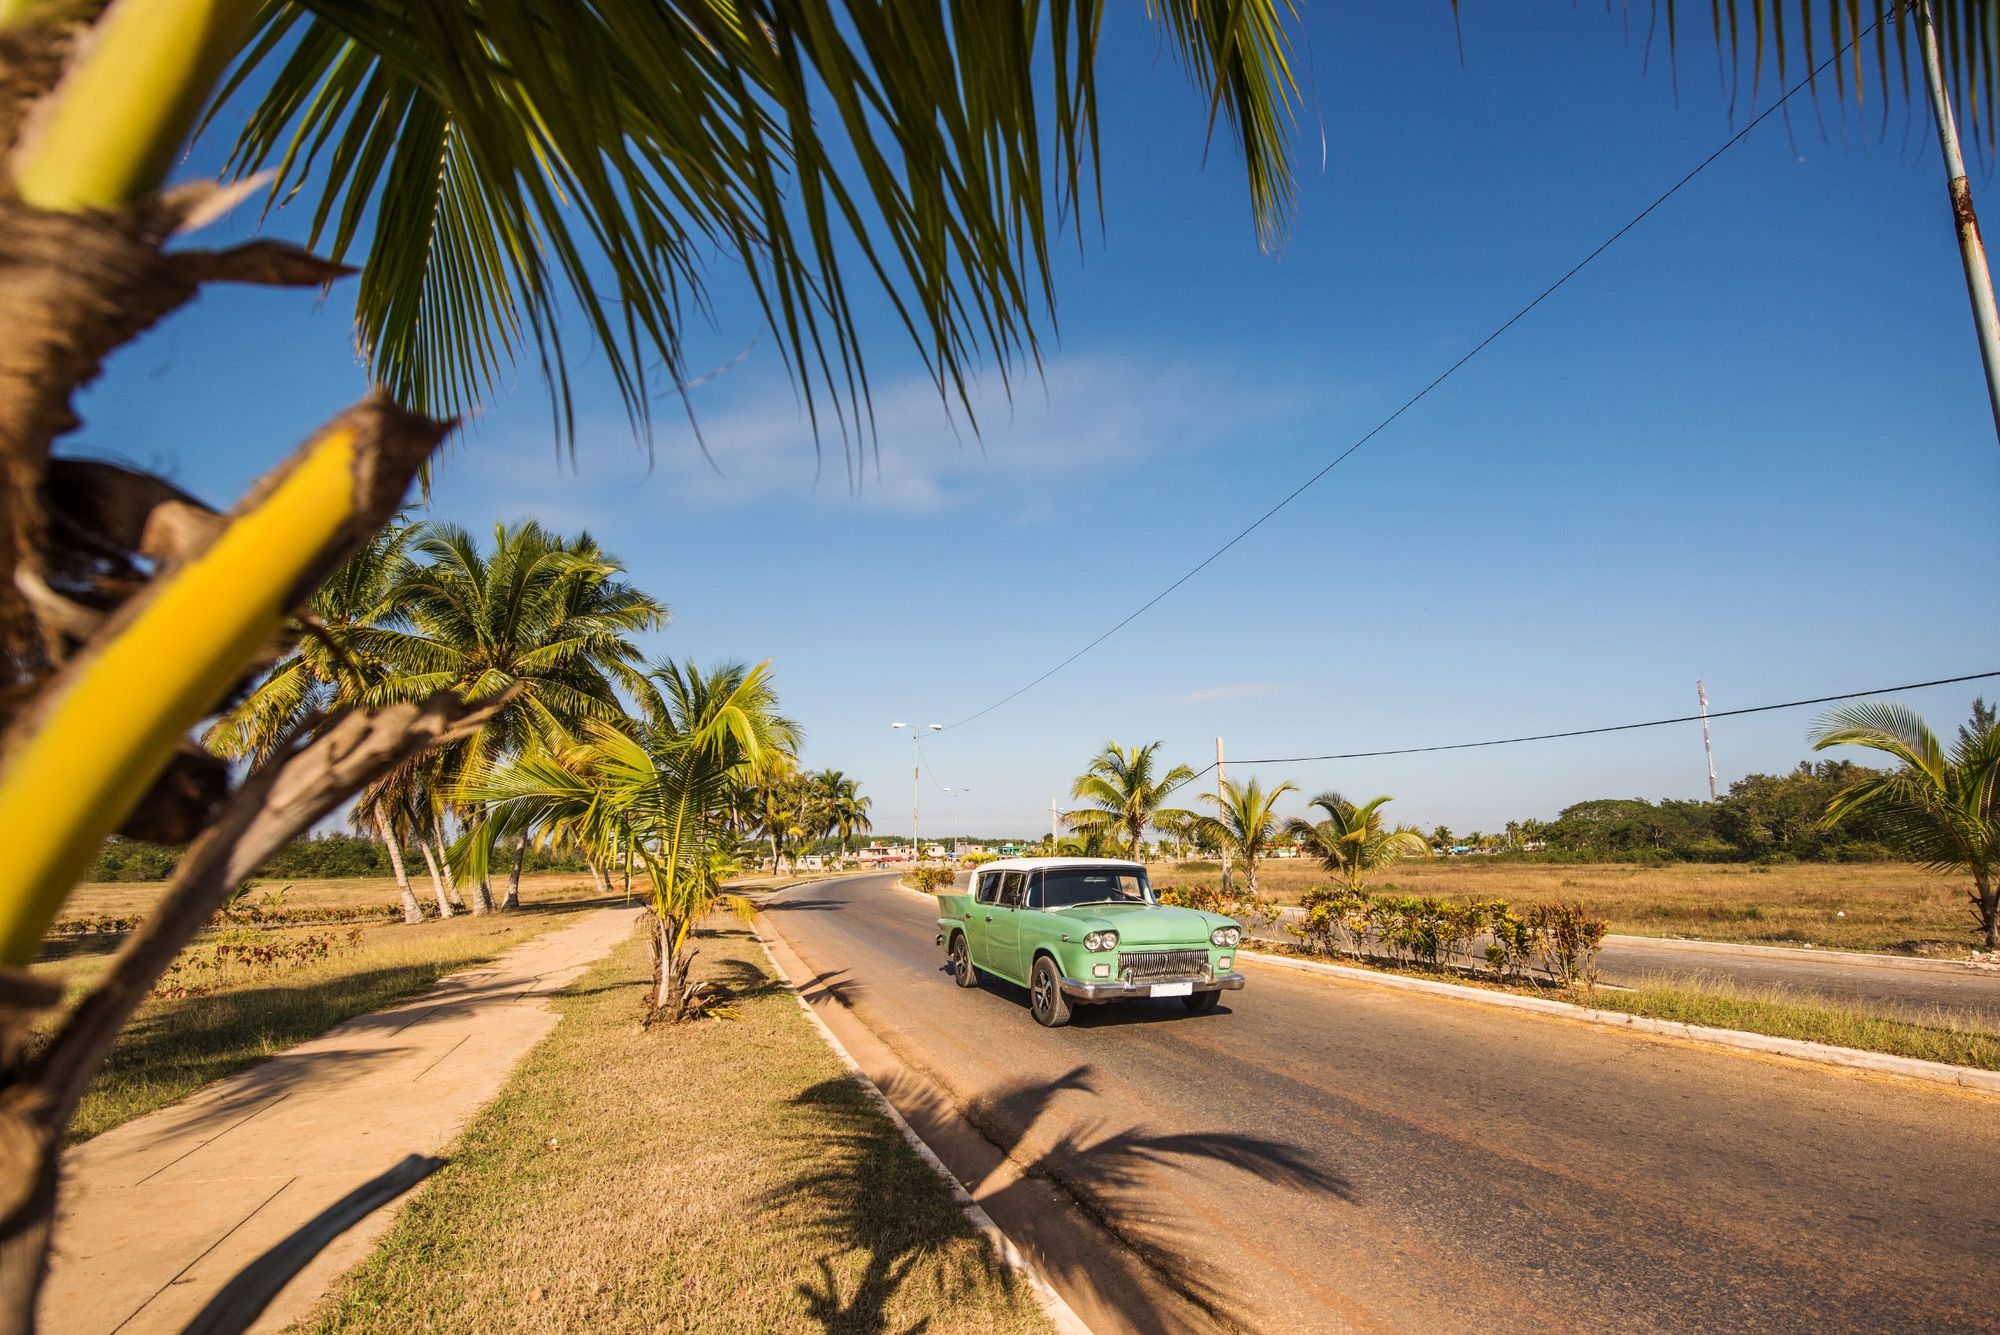
[[[632,909],[598,909],[70,1151],[44,1329],[178,1331],[342,1195],[404,1155],[440,1153],[556,1025],[542,999],[632,923]],[[348,1229],[254,1329],[304,1315],[392,1215]]]

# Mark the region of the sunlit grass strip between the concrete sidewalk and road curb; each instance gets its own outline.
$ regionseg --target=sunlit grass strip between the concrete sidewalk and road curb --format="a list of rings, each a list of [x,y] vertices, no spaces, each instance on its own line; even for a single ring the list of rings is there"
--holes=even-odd
[[[728,1021],[642,1029],[634,937],[310,1331],[1046,1331],[740,929]]]

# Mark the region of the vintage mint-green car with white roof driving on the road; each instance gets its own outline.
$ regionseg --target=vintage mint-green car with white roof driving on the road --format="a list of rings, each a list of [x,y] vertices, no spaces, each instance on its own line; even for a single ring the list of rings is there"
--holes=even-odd
[[[1028,989],[1038,1023],[1070,1023],[1072,1003],[1180,997],[1190,1011],[1244,985],[1242,927],[1160,903],[1136,861],[1010,857],[972,875],[970,895],[938,897],[938,945],[952,981],[980,973]]]

